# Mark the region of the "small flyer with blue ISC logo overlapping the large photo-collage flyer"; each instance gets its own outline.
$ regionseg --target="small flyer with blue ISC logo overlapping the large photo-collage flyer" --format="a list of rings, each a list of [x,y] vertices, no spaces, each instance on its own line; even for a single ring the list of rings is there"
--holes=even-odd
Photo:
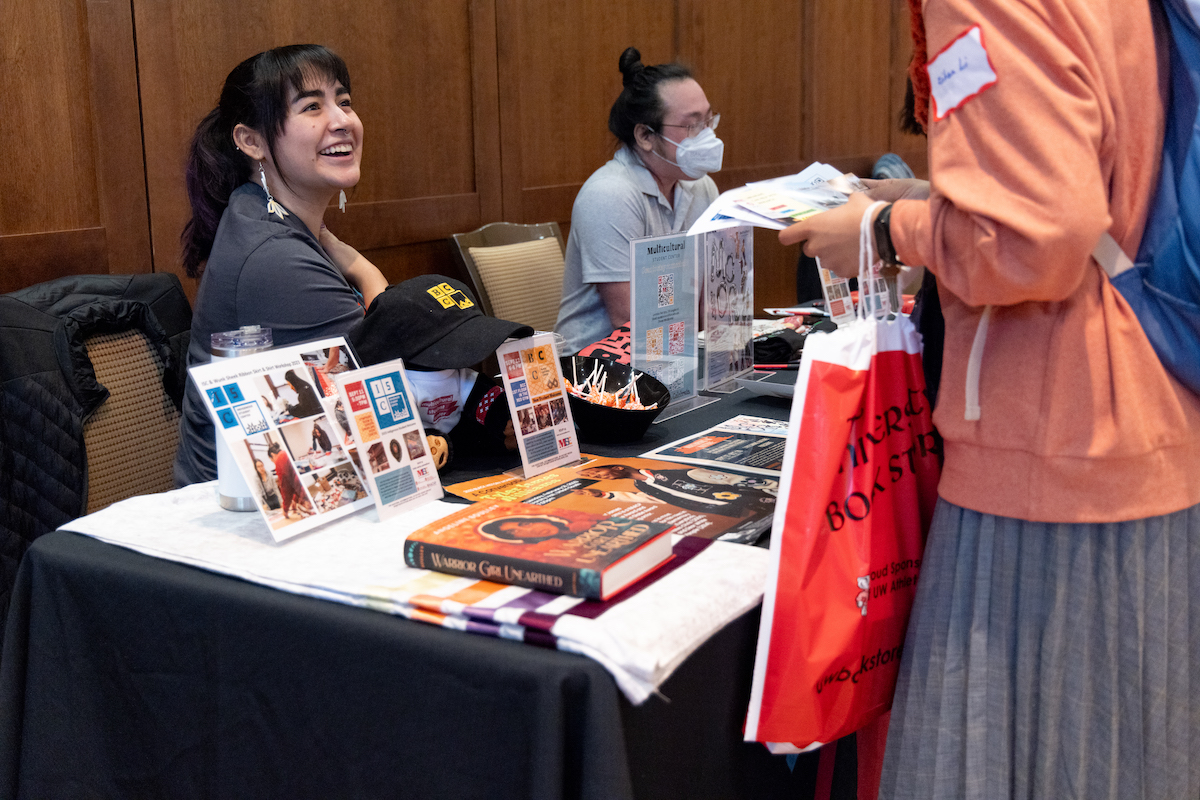
[[[413,387],[401,359],[337,375],[350,433],[366,455],[379,519],[442,497],[421,416],[413,404]]]

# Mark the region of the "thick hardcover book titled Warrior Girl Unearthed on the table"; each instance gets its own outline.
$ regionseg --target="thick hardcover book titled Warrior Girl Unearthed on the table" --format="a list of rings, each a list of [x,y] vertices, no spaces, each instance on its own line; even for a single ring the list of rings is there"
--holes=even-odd
[[[404,541],[404,564],[606,600],[671,558],[670,524],[523,503],[476,503]]]

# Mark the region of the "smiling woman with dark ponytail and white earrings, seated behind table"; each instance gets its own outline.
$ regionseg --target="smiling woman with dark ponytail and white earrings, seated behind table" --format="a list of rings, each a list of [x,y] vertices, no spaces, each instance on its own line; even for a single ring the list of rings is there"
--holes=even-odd
[[[361,161],[362,122],[336,53],[278,47],[229,73],[187,160],[184,267],[202,278],[188,365],[211,359],[214,332],[263,325],[275,344],[293,344],[362,319],[388,281],[323,223],[332,198],[359,182]],[[216,477],[214,441],[188,384],[176,485]]]

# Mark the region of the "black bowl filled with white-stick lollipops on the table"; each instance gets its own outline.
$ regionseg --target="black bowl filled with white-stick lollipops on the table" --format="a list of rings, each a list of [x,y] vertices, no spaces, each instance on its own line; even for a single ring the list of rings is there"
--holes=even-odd
[[[671,392],[662,385],[662,381],[646,374],[641,369],[634,369],[628,363],[614,363],[583,355],[564,355],[559,359],[559,362],[563,365],[563,377],[572,384],[576,375],[578,375],[580,383],[583,383],[592,374],[596,363],[602,365],[606,375],[606,381],[602,386],[605,391],[617,391],[629,384],[631,375],[637,375],[637,396],[641,398],[642,404],[650,405],[652,403],[658,403],[658,408],[635,411],[611,405],[598,405],[568,392],[566,396],[571,403],[571,416],[575,417],[575,427],[578,429],[580,441],[594,441],[596,444],[637,441],[646,435],[650,422],[671,402]]]

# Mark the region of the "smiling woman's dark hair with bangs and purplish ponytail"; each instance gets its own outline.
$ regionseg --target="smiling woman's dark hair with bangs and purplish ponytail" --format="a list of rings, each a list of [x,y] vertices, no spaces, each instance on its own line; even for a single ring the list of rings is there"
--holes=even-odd
[[[238,152],[233,130],[239,124],[258,131],[275,158],[275,142],[288,119],[290,95],[306,83],[335,80],[347,91],[350,73],[341,56],[320,44],[288,44],[253,55],[226,78],[217,107],[209,112],[187,154],[187,200],[192,218],[184,227],[184,270],[199,277],[212,249],[229,196],[251,179],[254,162]],[[283,182],[287,176],[280,173]]]

